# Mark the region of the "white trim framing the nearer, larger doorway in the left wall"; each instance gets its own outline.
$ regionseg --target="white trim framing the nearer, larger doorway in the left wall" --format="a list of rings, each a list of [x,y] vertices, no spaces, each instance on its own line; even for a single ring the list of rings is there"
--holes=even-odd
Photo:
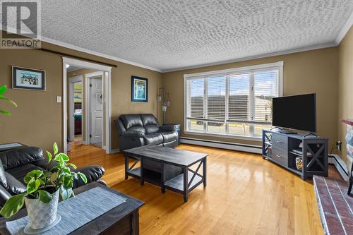
[[[78,59],[71,59],[68,57],[63,57],[63,152],[67,152],[67,71],[66,64],[72,66],[80,66],[83,68],[93,68],[99,71],[104,71],[104,79],[103,79],[103,87],[106,90],[106,94],[104,97],[106,109],[104,112],[105,129],[105,152],[107,154],[112,153],[112,67],[103,66],[101,64],[94,64],[87,61],[81,61]]]

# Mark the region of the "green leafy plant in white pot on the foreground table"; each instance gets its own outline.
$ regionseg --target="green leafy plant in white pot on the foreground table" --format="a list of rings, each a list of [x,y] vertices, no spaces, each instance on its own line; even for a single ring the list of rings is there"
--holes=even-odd
[[[42,229],[49,227],[56,218],[56,210],[59,201],[59,194],[62,200],[73,195],[72,187],[74,179],[82,179],[87,183],[83,173],[73,172],[76,166],[68,163],[68,156],[58,152],[56,143],[53,145],[54,155],[47,151],[48,164],[44,171],[33,170],[26,174],[23,179],[27,184],[27,191],[9,198],[0,215],[8,218],[15,215],[25,203],[28,212],[28,226],[31,229]],[[54,164],[56,162],[56,164]]]

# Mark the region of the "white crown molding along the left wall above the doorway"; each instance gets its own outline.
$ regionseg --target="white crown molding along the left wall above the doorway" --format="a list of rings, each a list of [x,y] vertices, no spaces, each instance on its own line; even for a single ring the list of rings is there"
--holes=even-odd
[[[66,47],[68,49],[73,49],[73,50],[76,50],[78,52],[84,52],[84,53],[87,53],[87,54],[92,54],[94,56],[100,56],[104,59],[112,59],[113,61],[119,61],[119,62],[122,62],[122,63],[125,63],[125,64],[131,64],[133,66],[138,66],[140,68],[147,68],[149,70],[152,70],[152,71],[157,71],[157,72],[162,72],[160,69],[158,68],[153,68],[153,67],[150,67],[150,66],[145,66],[143,64],[138,64],[136,62],[133,62],[133,61],[128,61],[126,59],[121,59],[119,57],[115,57],[115,56],[109,56],[107,54],[103,54],[103,53],[100,53],[100,52],[95,52],[95,51],[92,51],[90,49],[85,49],[83,47],[77,47],[77,46],[74,46],[73,44],[68,44],[66,42],[60,42],[60,41],[57,41],[57,40],[52,40],[48,37],[41,37],[40,40],[42,42],[47,42],[47,43],[50,43],[50,44],[54,44],[56,46],[59,46],[59,47]]]

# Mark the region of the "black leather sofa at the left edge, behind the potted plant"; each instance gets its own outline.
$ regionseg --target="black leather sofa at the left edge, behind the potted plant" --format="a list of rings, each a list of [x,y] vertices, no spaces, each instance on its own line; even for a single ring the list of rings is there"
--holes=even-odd
[[[6,203],[11,195],[24,193],[26,191],[23,178],[34,169],[44,170],[47,167],[47,158],[43,157],[43,151],[39,147],[20,147],[6,152],[0,152],[0,205]],[[56,162],[52,162],[50,167],[54,167]],[[82,167],[71,169],[80,171],[87,177],[87,183],[98,181],[107,185],[100,178],[104,175],[104,168],[100,166]],[[73,188],[78,188],[85,184],[81,179],[73,182]]]

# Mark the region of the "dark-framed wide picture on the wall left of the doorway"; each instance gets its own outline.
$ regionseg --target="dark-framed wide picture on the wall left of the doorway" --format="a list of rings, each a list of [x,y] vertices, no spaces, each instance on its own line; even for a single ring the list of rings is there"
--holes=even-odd
[[[12,88],[45,90],[45,71],[12,66]]]

